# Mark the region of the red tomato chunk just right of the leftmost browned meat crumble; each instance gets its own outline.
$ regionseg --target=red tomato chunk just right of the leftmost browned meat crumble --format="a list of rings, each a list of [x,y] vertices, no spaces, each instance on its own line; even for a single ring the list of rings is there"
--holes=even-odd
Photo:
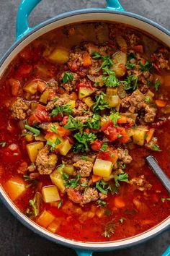
[[[49,120],[49,116],[45,106],[38,104],[34,113],[28,119],[28,122],[30,125],[32,125],[32,124],[35,124],[36,122],[42,123],[43,121],[48,121],[48,120]]]

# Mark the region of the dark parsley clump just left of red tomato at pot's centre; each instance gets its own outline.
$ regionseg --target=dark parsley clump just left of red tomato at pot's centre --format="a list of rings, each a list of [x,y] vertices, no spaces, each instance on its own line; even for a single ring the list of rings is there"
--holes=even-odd
[[[88,144],[96,140],[97,136],[90,132],[89,134],[84,132],[82,135],[77,132],[73,137],[75,137],[76,142],[73,145],[73,152],[87,152],[89,150]]]

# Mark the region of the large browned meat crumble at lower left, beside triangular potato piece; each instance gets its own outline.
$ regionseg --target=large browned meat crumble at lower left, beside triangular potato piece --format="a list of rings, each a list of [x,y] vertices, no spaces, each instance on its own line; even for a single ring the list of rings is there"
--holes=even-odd
[[[50,153],[48,147],[42,148],[37,154],[35,164],[40,174],[51,174],[57,163],[57,155]]]

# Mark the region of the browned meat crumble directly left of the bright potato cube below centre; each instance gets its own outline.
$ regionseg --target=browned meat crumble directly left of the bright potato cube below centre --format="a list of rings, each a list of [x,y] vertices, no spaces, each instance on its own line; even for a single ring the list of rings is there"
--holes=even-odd
[[[73,166],[79,169],[81,177],[89,177],[93,168],[93,163],[89,161],[79,160],[76,163],[73,163]]]

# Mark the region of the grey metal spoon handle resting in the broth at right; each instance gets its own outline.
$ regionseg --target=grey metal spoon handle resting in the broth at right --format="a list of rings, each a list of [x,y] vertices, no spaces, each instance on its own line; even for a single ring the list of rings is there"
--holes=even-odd
[[[153,155],[148,155],[146,157],[146,163],[148,163],[148,166],[151,168],[153,173],[158,176],[158,179],[161,180],[161,183],[170,193],[170,179],[168,178],[168,176],[166,176],[166,174],[164,174],[164,171],[162,171],[161,167],[158,165],[158,161],[156,160],[156,158],[154,158]]]

